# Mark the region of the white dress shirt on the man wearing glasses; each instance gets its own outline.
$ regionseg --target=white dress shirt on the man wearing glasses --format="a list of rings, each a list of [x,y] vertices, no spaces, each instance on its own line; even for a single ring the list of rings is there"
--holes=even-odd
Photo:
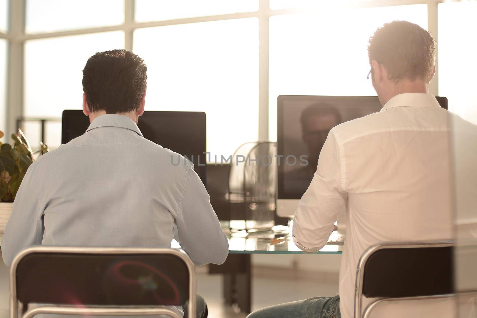
[[[385,241],[453,238],[449,122],[464,121],[455,117],[431,94],[404,93],[381,112],[329,133],[292,231],[297,246],[317,251],[346,207],[342,318],[353,318],[356,267],[366,248]],[[363,308],[368,303],[364,299]],[[450,300],[383,304],[372,317],[448,318],[454,316],[452,305]]]

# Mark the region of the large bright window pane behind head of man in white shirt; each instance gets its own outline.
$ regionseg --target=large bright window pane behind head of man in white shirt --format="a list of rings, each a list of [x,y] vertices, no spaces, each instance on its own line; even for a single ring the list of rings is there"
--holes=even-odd
[[[277,96],[376,95],[366,79],[369,37],[394,20],[427,29],[426,4],[313,10],[270,18],[270,140],[277,136]]]

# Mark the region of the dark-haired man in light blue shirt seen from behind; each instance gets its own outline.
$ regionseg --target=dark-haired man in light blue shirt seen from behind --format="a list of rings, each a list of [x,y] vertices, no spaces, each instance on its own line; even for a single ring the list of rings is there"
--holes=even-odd
[[[83,112],[91,125],[28,169],[1,244],[7,266],[34,245],[167,247],[173,237],[197,265],[225,261],[227,237],[192,164],[136,125],[146,78],[144,61],[129,51],[88,60]],[[207,316],[201,298],[197,309]]]

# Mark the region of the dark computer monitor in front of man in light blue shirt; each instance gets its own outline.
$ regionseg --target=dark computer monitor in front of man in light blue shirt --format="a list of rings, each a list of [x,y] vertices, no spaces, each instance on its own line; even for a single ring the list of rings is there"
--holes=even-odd
[[[62,144],[82,135],[89,125],[83,111],[63,111]],[[146,139],[186,156],[206,185],[206,113],[146,111],[137,126]]]

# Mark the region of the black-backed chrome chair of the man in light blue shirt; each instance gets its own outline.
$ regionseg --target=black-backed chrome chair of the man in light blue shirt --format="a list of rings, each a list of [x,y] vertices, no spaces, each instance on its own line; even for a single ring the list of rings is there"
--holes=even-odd
[[[10,267],[10,318],[38,314],[196,317],[196,277],[186,252],[172,248],[35,246]],[[48,304],[28,309],[28,304]]]

